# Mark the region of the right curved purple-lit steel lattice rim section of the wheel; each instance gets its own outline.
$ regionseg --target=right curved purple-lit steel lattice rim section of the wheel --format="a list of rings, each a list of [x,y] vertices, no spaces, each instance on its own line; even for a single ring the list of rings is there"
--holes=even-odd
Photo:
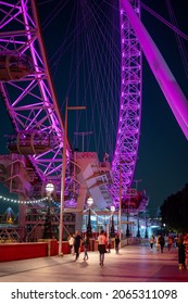
[[[140,16],[140,1],[131,1]],[[140,134],[141,116],[141,50],[129,20],[120,1],[122,37],[122,87],[116,147],[112,162],[112,194],[118,201],[120,180],[125,191],[131,186]],[[121,173],[121,174],[120,174]]]

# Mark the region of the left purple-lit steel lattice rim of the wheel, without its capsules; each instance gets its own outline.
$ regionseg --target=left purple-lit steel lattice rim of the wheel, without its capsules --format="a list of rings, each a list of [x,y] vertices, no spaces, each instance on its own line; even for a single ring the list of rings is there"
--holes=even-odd
[[[60,181],[64,127],[39,30],[35,1],[0,2],[0,54],[27,56],[32,71],[21,79],[0,83],[0,90],[16,134],[48,132],[52,147],[29,155],[42,182]],[[15,28],[15,30],[12,30]],[[67,145],[68,147],[68,145]]]

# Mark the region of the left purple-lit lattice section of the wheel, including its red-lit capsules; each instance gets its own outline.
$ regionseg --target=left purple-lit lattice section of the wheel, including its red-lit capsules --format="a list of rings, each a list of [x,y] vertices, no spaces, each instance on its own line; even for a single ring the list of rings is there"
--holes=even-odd
[[[9,150],[27,155],[34,185],[59,180],[64,127],[35,1],[1,1],[0,16],[0,90],[15,130]]]

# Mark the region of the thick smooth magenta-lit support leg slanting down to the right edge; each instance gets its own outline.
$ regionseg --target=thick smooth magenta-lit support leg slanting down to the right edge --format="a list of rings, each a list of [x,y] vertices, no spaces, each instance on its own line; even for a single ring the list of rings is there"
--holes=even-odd
[[[122,0],[121,2],[137,35],[151,71],[153,72],[153,75],[155,76],[185,137],[188,139],[188,101],[178,86],[174,75],[168,68],[166,62],[164,61],[162,54],[160,53],[158,47],[133,10],[129,1]]]

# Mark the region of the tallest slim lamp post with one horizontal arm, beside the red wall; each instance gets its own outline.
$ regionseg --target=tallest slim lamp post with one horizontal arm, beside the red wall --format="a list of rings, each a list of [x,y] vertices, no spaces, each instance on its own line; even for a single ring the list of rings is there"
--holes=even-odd
[[[66,172],[67,111],[68,110],[85,110],[85,109],[86,109],[86,106],[67,106],[67,98],[66,98],[66,101],[65,101],[65,119],[64,119],[64,138],[63,138],[62,177],[61,177],[59,256],[62,255],[62,239],[63,239],[63,208],[64,208],[65,172]]]

